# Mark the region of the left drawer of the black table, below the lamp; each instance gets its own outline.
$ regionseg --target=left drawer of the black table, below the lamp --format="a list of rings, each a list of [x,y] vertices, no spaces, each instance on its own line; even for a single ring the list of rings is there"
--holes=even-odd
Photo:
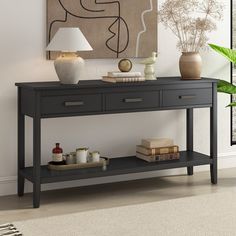
[[[41,113],[44,115],[96,111],[102,111],[100,94],[52,96],[41,100]]]

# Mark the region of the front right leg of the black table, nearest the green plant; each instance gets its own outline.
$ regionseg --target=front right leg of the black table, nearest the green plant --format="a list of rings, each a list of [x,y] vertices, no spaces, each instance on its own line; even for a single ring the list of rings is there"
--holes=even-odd
[[[210,108],[210,165],[211,183],[217,184],[217,84],[213,87],[213,105]]]

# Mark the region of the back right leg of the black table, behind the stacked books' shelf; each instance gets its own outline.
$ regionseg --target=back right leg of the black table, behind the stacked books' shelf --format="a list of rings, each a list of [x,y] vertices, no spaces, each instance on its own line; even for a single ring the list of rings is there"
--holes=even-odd
[[[188,151],[193,151],[193,108],[189,108],[186,111],[186,137],[187,137],[187,150]],[[187,173],[188,175],[193,175],[193,166],[187,167]]]

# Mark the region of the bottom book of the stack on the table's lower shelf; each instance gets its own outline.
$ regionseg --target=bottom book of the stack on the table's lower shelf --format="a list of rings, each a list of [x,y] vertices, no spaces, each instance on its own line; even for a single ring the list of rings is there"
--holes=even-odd
[[[139,152],[136,152],[136,157],[147,162],[161,162],[161,161],[170,161],[170,160],[179,160],[180,154],[176,153],[167,153],[160,155],[145,155]]]

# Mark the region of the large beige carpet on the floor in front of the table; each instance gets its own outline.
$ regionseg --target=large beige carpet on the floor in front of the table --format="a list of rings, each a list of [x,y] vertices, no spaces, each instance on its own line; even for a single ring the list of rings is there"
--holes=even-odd
[[[14,222],[24,236],[236,235],[236,189]]]

